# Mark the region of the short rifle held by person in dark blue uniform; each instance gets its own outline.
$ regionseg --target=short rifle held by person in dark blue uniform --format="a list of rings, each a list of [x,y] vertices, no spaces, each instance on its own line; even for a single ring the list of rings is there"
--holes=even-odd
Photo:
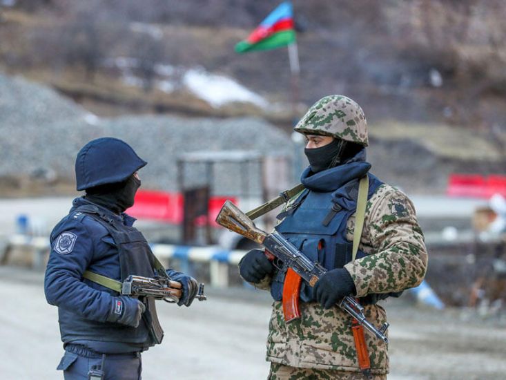
[[[121,294],[125,296],[151,296],[166,302],[175,303],[182,295],[182,285],[177,281],[157,276],[155,278],[142,276],[128,276],[121,286]],[[199,301],[207,299],[204,296],[204,284],[199,284],[197,295]]]

